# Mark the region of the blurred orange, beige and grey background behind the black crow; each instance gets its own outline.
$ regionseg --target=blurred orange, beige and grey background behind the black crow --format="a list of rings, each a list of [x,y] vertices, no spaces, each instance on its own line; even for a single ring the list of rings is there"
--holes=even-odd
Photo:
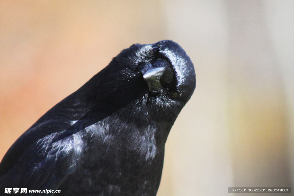
[[[0,1],[0,159],[122,49],[164,39],[197,85],[157,195],[294,187],[293,0]]]

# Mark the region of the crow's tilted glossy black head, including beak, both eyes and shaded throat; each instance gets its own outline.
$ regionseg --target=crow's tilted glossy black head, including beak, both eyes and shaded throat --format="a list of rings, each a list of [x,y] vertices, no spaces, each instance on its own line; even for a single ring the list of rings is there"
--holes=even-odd
[[[162,105],[178,108],[176,116],[196,87],[192,61],[181,46],[170,40],[133,44],[92,79],[99,89],[98,100],[107,110],[144,102],[155,110]]]

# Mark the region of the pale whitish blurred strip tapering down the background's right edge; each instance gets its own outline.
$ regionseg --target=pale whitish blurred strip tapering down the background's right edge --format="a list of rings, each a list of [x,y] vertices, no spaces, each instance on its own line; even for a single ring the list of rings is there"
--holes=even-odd
[[[264,1],[264,13],[283,78],[288,112],[288,156],[294,187],[294,1]]]

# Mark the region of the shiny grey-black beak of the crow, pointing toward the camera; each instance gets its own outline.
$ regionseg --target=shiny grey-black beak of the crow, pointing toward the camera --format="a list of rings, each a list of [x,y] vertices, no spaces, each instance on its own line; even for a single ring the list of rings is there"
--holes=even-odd
[[[146,81],[149,90],[153,93],[158,93],[161,88],[160,78],[165,71],[165,67],[153,67],[150,66],[149,69],[143,74],[143,78]]]

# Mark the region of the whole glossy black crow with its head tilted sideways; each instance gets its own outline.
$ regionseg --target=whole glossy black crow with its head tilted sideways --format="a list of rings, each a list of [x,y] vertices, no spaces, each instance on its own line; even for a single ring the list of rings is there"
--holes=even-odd
[[[9,148],[0,195],[10,187],[27,188],[24,195],[156,195],[168,133],[195,86],[177,43],[124,49]]]

